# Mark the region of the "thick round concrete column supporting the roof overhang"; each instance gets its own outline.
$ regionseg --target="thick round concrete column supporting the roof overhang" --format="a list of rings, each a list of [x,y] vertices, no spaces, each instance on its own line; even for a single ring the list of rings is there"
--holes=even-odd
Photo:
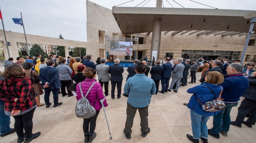
[[[154,21],[153,31],[152,31],[150,60],[152,60],[153,56],[155,56],[155,61],[159,59],[160,41],[161,41],[161,20]],[[154,54],[155,53],[154,51],[157,51],[156,55]]]

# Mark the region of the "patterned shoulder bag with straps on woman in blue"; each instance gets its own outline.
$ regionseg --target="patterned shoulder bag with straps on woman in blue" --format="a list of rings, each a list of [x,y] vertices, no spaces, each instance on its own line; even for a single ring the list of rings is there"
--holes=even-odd
[[[204,85],[204,86],[208,87],[206,85]],[[213,90],[210,87],[208,87],[208,89],[211,90],[211,92],[215,95],[216,99],[202,104],[202,102],[198,99],[198,97],[196,95],[197,100],[199,101],[199,103],[202,106],[202,110],[203,111],[208,111],[208,112],[216,112],[216,111],[220,111],[220,110],[224,109],[226,107],[226,105],[223,102],[223,99],[220,98],[221,94],[222,94],[222,88],[221,88],[221,92],[220,92],[219,97],[217,97],[217,95],[213,92]]]

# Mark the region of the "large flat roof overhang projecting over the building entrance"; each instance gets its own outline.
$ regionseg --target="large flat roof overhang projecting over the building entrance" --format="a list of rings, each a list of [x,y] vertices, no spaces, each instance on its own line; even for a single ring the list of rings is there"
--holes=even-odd
[[[152,32],[154,21],[161,21],[161,31],[248,32],[250,19],[245,19],[244,16],[251,12],[253,11],[112,7],[112,13],[123,34]]]

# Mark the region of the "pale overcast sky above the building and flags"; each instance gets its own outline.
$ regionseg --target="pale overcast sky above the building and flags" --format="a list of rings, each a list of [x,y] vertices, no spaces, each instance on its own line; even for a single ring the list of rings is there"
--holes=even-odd
[[[98,5],[112,9],[119,7],[156,7],[156,0],[90,0]],[[175,0],[185,8],[201,9],[237,9],[256,10],[256,0]],[[173,0],[163,0],[163,7],[182,8]],[[14,24],[12,18],[21,18],[26,34],[56,37],[62,34],[64,39],[87,41],[86,35],[86,0],[0,0],[5,31],[24,33],[23,27]],[[0,29],[3,29],[0,24]]]

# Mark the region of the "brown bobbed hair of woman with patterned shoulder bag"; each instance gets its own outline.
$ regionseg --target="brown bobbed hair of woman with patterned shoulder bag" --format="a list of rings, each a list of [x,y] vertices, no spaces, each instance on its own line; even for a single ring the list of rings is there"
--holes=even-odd
[[[213,71],[213,72],[208,72],[207,74],[207,83],[211,84],[220,84],[224,81],[224,77],[220,72]]]

